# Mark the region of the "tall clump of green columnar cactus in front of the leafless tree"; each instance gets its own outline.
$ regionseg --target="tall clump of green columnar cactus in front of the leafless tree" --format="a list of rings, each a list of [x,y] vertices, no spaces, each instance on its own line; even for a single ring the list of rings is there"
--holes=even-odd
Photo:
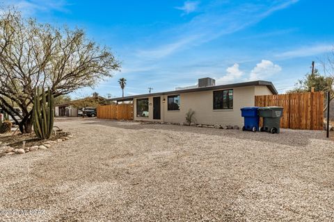
[[[54,96],[50,89],[47,90],[47,96],[44,89],[40,95],[40,90],[37,88],[33,96],[33,130],[38,138],[49,139],[52,128],[54,128]]]

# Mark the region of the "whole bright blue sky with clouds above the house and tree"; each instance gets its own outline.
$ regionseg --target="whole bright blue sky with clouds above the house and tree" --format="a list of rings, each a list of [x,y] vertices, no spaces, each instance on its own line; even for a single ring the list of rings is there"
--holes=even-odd
[[[84,28],[111,47],[120,72],[95,89],[121,96],[195,85],[270,80],[285,92],[334,46],[334,1],[72,1],[9,0],[24,15]],[[316,65],[319,66],[318,63]],[[318,67],[320,69],[320,67]],[[320,69],[321,70],[321,69]]]

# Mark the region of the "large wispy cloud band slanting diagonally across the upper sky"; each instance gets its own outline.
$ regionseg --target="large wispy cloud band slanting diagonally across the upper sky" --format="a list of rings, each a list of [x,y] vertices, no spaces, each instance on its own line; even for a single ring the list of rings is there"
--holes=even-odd
[[[184,10],[184,12],[196,10],[194,6],[187,6],[189,8],[186,8],[186,3],[189,2],[193,3],[196,1],[186,1],[184,6],[178,9]],[[145,56],[145,58],[151,60],[170,56],[177,51],[188,49],[190,46],[198,46],[223,35],[240,31],[260,22],[273,12],[283,10],[296,2],[297,0],[283,0],[269,6],[247,3],[238,5],[229,12],[219,10],[218,7],[209,4],[206,8],[202,8],[203,13],[193,17],[190,22],[164,31],[161,35],[155,35],[154,38],[164,40],[161,42],[161,45],[155,47],[148,46],[149,49],[141,49],[138,51],[137,56]],[[168,37],[170,37],[169,41]]]

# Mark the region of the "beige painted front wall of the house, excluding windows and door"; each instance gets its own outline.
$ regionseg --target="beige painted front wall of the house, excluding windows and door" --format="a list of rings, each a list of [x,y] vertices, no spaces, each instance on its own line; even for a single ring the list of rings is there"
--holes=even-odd
[[[267,86],[264,86],[267,88]],[[136,117],[136,99],[134,99],[134,119],[144,121],[166,121],[171,123],[182,123],[185,121],[186,112],[189,109],[196,113],[194,117],[197,123],[201,124],[221,124],[242,126],[244,119],[241,117],[240,108],[255,105],[255,92],[257,94],[267,94],[270,90],[264,87],[249,86],[233,88],[233,109],[214,110],[213,90],[202,92],[189,92],[180,94],[180,111],[167,110],[167,95],[161,97],[161,119],[153,119],[153,97],[149,99],[149,117]],[[220,89],[221,90],[221,89]],[[271,92],[270,92],[271,94]],[[171,95],[171,94],[170,94]],[[138,98],[139,99],[139,98]],[[166,102],[163,103],[163,99]]]

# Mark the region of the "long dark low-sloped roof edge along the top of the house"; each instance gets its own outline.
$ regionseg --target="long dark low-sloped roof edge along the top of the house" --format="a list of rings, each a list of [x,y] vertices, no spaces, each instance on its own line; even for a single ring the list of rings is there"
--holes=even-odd
[[[252,85],[265,85],[269,88],[269,90],[273,94],[278,94],[276,88],[273,86],[273,83],[269,81],[263,81],[263,80],[257,80],[252,82],[245,82],[245,83],[233,83],[228,85],[215,85],[215,86],[209,86],[209,87],[197,87],[197,88],[191,88],[191,89],[180,89],[180,90],[174,90],[174,91],[168,91],[168,92],[156,92],[151,94],[139,94],[134,96],[124,96],[124,97],[116,97],[112,99],[107,99],[107,101],[131,101],[135,98],[142,98],[147,96],[161,96],[161,95],[172,95],[172,94],[182,94],[187,92],[202,92],[207,90],[218,90],[218,89],[228,89],[228,88],[237,88],[237,87],[246,87],[246,86],[252,86]]]

